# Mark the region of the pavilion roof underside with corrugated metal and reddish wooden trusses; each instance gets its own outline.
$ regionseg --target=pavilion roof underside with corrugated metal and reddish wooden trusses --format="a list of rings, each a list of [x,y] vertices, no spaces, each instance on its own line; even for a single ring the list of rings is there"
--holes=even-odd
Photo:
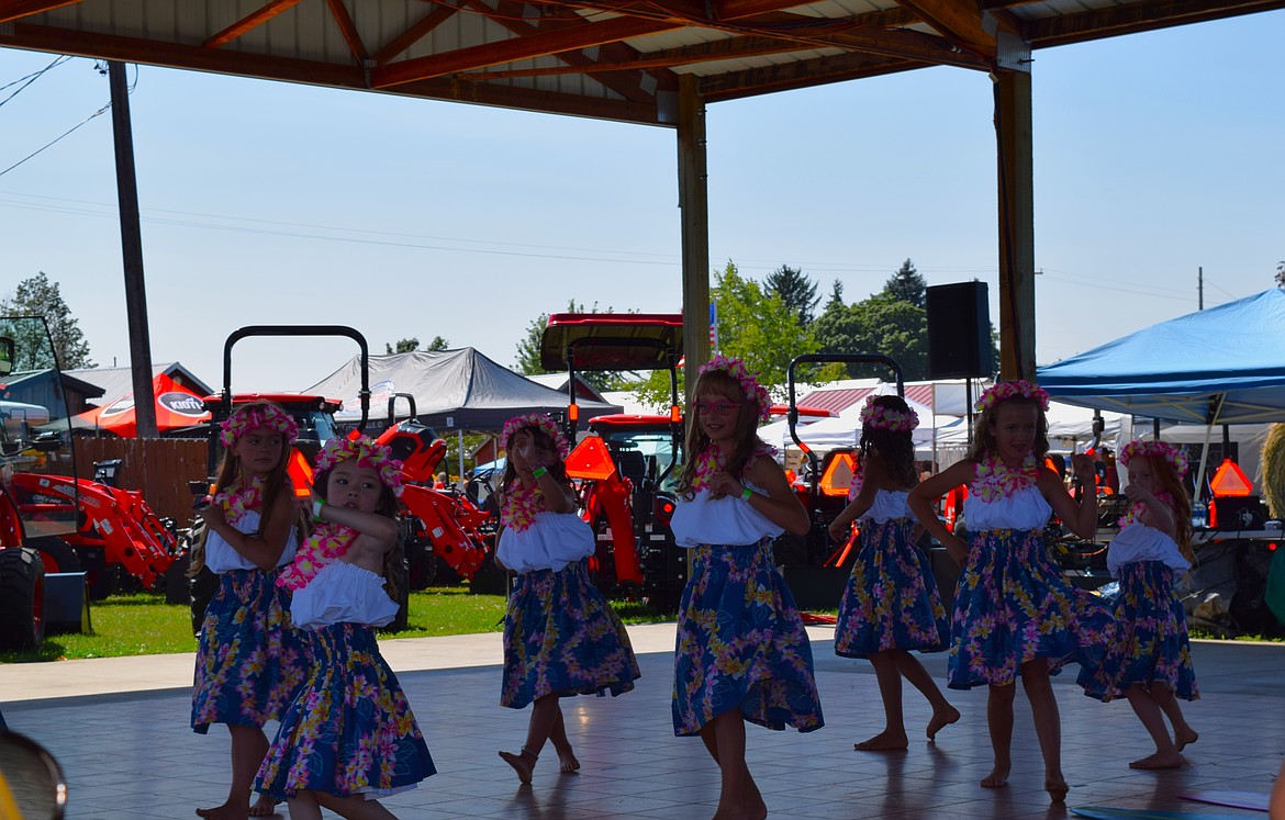
[[[1285,8],[1285,0],[0,0],[0,46],[673,125],[707,103]],[[1011,66],[1002,66],[1011,68]]]

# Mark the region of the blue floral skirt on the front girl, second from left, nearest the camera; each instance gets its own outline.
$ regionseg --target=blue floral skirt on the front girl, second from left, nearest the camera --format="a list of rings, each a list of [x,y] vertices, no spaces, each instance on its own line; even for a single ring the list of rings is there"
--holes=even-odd
[[[436,774],[375,627],[333,623],[308,635],[317,662],[281,717],[254,789],[276,801],[301,789],[379,796]]]

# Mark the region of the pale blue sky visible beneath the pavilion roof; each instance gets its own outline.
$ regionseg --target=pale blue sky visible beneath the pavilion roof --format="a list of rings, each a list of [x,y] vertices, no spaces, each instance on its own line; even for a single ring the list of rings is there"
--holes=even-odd
[[[1037,360],[1272,287],[1285,260],[1285,12],[1034,54]],[[55,55],[0,49],[0,85]],[[446,337],[511,365],[568,299],[677,311],[675,134],[143,67],[130,104],[154,361],[217,387],[248,324]],[[107,103],[91,60],[0,90],[0,171]],[[711,105],[711,266],[851,301],[911,258],[989,283],[991,81],[926,69]],[[0,174],[0,293],[60,284],[128,362],[111,116]],[[301,389],[350,342],[247,341],[235,389]]]

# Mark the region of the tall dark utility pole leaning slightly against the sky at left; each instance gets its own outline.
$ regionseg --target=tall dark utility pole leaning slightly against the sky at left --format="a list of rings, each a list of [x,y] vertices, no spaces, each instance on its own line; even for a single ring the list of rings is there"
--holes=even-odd
[[[134,377],[134,419],[139,438],[155,438],[157,402],[152,393],[152,341],[148,294],[143,283],[143,231],[139,227],[139,185],[134,174],[134,129],[125,63],[107,63],[112,87],[112,134],[116,138],[116,198],[121,212],[121,258],[125,265],[125,315],[130,328],[130,370]]]

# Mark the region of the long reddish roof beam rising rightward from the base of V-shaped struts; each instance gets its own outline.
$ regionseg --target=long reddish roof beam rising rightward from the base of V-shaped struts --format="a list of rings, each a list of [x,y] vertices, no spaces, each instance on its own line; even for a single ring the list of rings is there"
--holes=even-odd
[[[371,81],[377,89],[387,89],[403,82],[429,80],[445,75],[532,59],[560,51],[587,49],[631,37],[645,37],[662,31],[681,28],[675,23],[653,22],[617,17],[599,23],[585,23],[558,31],[540,32],[527,37],[513,37],[501,42],[468,46],[445,54],[401,60],[377,68]]]

